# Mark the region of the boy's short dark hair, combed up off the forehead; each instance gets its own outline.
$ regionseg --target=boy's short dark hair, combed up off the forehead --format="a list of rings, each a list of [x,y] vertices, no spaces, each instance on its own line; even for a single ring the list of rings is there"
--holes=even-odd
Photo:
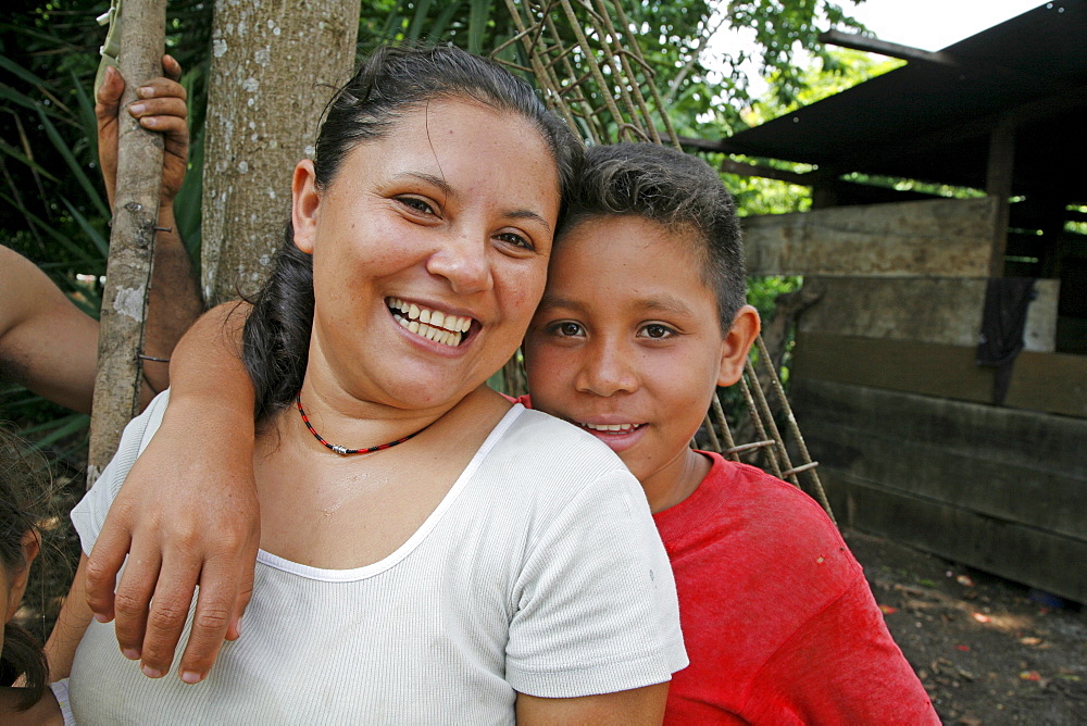
[[[747,299],[744,245],[733,197],[709,164],[655,143],[590,147],[560,236],[611,214],[642,216],[699,242],[702,279],[716,293],[721,329],[732,328]]]

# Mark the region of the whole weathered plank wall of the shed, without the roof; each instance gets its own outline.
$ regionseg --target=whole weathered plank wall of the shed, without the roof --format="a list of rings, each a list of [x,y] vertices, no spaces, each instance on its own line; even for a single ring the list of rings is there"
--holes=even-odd
[[[1040,280],[1004,405],[975,364],[992,200],[746,221],[752,274],[822,290],[791,398],[839,520],[1087,601],[1087,356],[1057,354]]]

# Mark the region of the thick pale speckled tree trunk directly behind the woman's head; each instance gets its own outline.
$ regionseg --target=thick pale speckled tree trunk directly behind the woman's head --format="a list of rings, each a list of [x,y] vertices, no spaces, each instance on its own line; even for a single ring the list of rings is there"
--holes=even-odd
[[[217,0],[204,148],[202,287],[251,295],[283,239],[295,164],[354,65],[360,0]]]

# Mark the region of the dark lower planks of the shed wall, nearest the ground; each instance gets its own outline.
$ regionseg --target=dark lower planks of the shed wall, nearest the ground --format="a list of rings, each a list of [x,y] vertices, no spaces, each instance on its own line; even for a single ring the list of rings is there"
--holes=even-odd
[[[790,397],[839,522],[1087,602],[1087,421],[815,379]]]

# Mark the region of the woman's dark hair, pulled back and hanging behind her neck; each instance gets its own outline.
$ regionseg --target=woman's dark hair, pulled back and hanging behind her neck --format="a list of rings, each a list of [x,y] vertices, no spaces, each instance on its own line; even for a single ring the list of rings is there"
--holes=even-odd
[[[530,121],[551,151],[565,198],[580,160],[580,140],[528,84],[451,46],[387,46],[362,64],[325,109],[313,160],[317,188],[327,188],[355,146],[382,138],[404,113],[442,99],[470,99]],[[295,247],[288,223],[242,336],[258,422],[289,405],[301,388],[312,325],[313,260]]]

